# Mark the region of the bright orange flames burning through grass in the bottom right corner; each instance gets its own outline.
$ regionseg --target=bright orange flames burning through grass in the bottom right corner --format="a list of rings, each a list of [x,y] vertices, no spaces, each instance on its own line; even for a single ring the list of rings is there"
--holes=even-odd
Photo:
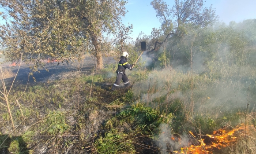
[[[231,128],[231,129],[230,129]],[[236,128],[227,126],[226,128],[214,131],[212,135],[200,136],[198,139],[200,145],[191,145],[189,147],[182,147],[181,151],[173,151],[175,154],[214,154],[214,153],[253,153],[255,154],[256,139],[254,138],[256,128],[253,125],[244,124],[237,125]],[[193,137],[192,132],[189,132]],[[247,140],[247,141],[246,141]],[[180,142],[180,141],[178,141]],[[246,143],[245,143],[246,142]],[[241,144],[244,143],[244,144]]]

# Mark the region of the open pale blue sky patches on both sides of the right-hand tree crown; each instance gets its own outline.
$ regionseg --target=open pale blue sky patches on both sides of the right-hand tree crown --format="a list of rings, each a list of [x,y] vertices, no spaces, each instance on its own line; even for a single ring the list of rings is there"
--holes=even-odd
[[[123,18],[124,25],[133,25],[132,34],[134,40],[139,33],[150,35],[152,28],[159,28],[160,22],[156,17],[153,7],[150,5],[152,0],[128,0],[126,9],[128,13]],[[164,0],[172,7],[174,0]],[[243,22],[245,19],[256,19],[256,0],[206,0],[205,7],[212,7],[216,10],[218,20],[227,25],[231,21]]]

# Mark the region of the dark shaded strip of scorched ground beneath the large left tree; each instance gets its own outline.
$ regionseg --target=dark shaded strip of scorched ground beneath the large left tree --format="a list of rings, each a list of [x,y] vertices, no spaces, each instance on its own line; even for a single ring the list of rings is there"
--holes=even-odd
[[[112,57],[106,57],[103,58],[103,63],[104,65],[110,64],[115,62],[115,60]],[[26,84],[27,82],[29,83],[34,83],[36,82],[46,82],[46,81],[54,81],[57,79],[66,79],[66,78],[71,78],[75,77],[79,74],[78,71],[78,62],[70,62],[69,64],[67,63],[62,63],[62,62],[50,62],[46,63],[45,68],[48,69],[41,69],[39,72],[34,72],[33,76],[30,75],[29,73],[31,72],[31,69],[29,68],[28,65],[22,64],[20,66],[18,75],[15,79],[16,84]],[[83,74],[90,74],[92,69],[94,68],[95,65],[95,58],[91,58],[87,56],[83,63],[80,64],[81,73]],[[11,63],[5,63],[2,65],[4,69],[10,69],[12,73],[16,74],[18,71],[19,66],[11,66]],[[33,79],[35,78],[35,81]],[[10,77],[5,79],[7,83],[11,83],[14,80],[14,77]]]

